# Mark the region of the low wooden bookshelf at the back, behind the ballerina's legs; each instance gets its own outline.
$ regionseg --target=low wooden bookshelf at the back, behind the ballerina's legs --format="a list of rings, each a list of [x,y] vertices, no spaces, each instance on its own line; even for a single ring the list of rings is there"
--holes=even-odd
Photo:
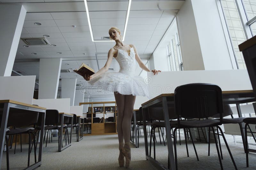
[[[107,135],[107,134],[117,134],[116,131],[116,120],[117,120],[117,107],[116,102],[86,102],[79,103],[88,104],[88,113],[83,113],[84,117],[87,119],[91,118],[91,134],[86,135]],[[90,116],[89,116],[90,115]],[[98,118],[97,118],[98,117]],[[97,123],[95,120],[99,120]]]

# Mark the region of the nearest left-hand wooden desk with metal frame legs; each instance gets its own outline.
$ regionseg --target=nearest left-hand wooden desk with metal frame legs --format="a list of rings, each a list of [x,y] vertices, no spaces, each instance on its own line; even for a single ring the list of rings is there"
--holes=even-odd
[[[41,124],[44,124],[46,108],[34,106],[27,103],[16,102],[13,100],[0,100],[0,109],[3,109],[2,122],[1,122],[1,128],[0,128],[0,146],[1,146],[0,167],[1,167],[3,151],[4,151],[5,129],[7,126],[9,114],[12,114],[13,111],[17,111],[17,110],[29,110],[35,113],[39,112],[39,114],[42,114]],[[44,131],[44,126],[41,126],[41,132],[43,131]],[[43,138],[44,138],[44,133],[40,133],[39,154],[37,159],[38,161],[25,169],[29,169],[29,170],[35,169],[37,166],[40,166],[42,164]]]

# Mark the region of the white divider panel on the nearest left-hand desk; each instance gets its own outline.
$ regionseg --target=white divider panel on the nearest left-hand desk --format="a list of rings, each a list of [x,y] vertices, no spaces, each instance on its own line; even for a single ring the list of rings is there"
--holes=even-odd
[[[35,75],[0,77],[0,100],[32,104],[35,80]]]

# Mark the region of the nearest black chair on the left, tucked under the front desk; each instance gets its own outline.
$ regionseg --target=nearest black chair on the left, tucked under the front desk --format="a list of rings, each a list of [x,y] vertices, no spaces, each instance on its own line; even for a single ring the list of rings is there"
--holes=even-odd
[[[31,134],[34,137],[34,155],[36,163],[36,142],[35,142],[35,127],[38,120],[39,113],[30,112],[30,111],[19,111],[9,115],[7,127],[12,126],[15,129],[10,129],[6,131],[6,143],[8,143],[8,136],[16,134],[25,134],[29,135],[28,140],[28,166],[30,163],[30,152],[31,152]],[[1,121],[1,120],[0,120]],[[17,129],[18,127],[18,129]],[[6,158],[7,159],[7,169],[9,169],[9,150],[8,144],[6,145]]]

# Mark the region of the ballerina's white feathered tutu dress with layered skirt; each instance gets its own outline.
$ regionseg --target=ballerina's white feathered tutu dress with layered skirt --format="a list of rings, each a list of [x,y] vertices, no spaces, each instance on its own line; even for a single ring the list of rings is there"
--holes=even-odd
[[[106,72],[88,81],[98,91],[118,92],[122,95],[147,96],[148,85],[144,79],[135,75],[135,52],[131,48],[130,56],[124,50],[118,50],[116,60],[119,72]]]

